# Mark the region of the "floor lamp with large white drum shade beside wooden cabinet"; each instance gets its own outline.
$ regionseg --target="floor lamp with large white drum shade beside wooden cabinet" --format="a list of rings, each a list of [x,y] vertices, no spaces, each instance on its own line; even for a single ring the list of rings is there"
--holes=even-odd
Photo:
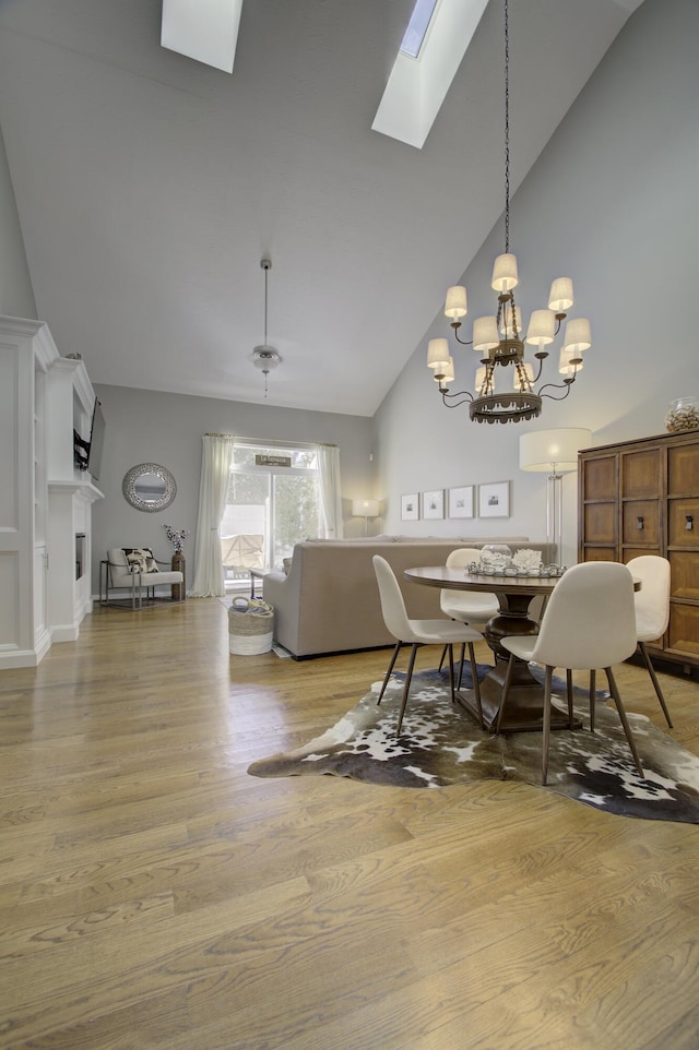
[[[520,469],[548,474],[546,482],[546,541],[556,545],[562,564],[564,474],[578,469],[578,452],[589,448],[592,432],[582,427],[537,430],[520,434]]]

